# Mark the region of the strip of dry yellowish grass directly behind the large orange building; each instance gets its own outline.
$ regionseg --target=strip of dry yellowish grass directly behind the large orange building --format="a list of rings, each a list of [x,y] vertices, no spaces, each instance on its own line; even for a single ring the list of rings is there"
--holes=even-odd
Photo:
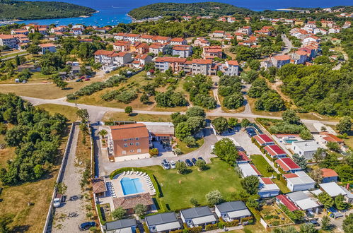
[[[151,121],[165,122],[170,121],[169,115],[154,115],[154,114],[130,114],[125,112],[107,112],[104,114],[103,121]]]

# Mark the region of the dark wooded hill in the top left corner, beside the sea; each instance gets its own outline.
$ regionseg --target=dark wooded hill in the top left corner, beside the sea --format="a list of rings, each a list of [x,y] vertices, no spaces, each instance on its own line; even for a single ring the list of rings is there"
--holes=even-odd
[[[58,1],[0,0],[0,20],[34,20],[88,16],[93,8]]]

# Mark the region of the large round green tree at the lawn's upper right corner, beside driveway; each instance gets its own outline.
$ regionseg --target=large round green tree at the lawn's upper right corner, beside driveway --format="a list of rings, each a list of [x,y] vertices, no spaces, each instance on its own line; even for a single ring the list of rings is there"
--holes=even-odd
[[[214,144],[213,153],[230,165],[234,165],[239,156],[236,145],[234,145],[233,141],[229,138],[222,138],[220,141],[216,142]]]

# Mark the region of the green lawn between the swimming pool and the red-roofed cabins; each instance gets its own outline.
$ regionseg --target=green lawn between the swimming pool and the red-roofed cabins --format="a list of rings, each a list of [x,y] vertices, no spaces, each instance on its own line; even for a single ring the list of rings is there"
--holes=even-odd
[[[191,208],[190,198],[197,199],[200,205],[207,205],[205,195],[216,189],[224,198],[242,190],[241,178],[236,176],[233,167],[218,158],[212,159],[206,171],[199,172],[192,167],[192,172],[185,175],[178,174],[175,169],[164,170],[161,166],[146,169],[154,173],[161,185],[163,197],[158,198],[159,203],[163,201],[170,210]]]

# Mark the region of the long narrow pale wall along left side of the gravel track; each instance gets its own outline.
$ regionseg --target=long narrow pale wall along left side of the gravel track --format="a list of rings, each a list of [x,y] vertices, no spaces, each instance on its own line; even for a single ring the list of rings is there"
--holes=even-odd
[[[69,152],[69,146],[71,145],[72,136],[74,135],[74,126],[76,126],[75,122],[71,124],[69,138],[67,138],[67,143],[66,143],[64,155],[62,157],[62,165],[60,166],[59,174],[57,175],[57,184],[62,180],[63,168],[66,165],[67,155],[68,155],[68,152]],[[53,214],[53,205],[52,205],[52,203],[53,203],[54,198],[55,198],[56,195],[57,195],[57,186],[54,187],[54,191],[52,193],[52,200],[50,201],[50,206],[49,206],[49,210],[48,210],[48,213],[47,213],[47,220],[45,220],[43,233],[52,231],[51,229],[48,229],[48,227],[49,227],[50,221],[52,220],[52,214]]]

